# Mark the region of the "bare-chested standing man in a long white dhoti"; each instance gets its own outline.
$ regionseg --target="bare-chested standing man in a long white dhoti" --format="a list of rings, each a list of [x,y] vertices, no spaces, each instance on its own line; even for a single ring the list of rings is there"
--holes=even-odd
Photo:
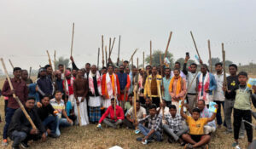
[[[73,83],[73,93],[76,99],[74,103],[75,114],[80,118],[80,126],[89,124],[89,118],[87,113],[87,101],[85,100],[88,94],[88,82],[87,79],[84,79],[82,71],[78,71],[78,77],[74,80]]]

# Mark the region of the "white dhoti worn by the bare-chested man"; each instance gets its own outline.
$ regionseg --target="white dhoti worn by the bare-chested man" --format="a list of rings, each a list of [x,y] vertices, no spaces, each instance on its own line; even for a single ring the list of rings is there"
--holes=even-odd
[[[80,110],[80,118],[81,118],[81,126],[89,124],[89,118],[87,113],[87,101],[84,99],[84,102],[81,102],[82,97],[78,97],[79,100],[79,110]],[[78,106],[77,102],[74,103],[74,112],[75,115],[78,117],[76,120],[76,124],[79,123],[79,114],[78,114]]]

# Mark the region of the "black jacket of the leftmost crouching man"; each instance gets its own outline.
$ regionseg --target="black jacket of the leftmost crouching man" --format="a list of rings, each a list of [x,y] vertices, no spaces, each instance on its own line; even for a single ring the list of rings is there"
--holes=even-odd
[[[38,113],[36,112],[36,110],[32,109],[31,111],[27,111],[26,109],[26,112],[31,117],[33,123],[35,123],[37,129],[39,130],[39,134],[43,134],[46,130],[44,129],[44,125],[38,117]],[[14,116],[12,117],[11,122],[9,123],[8,136],[11,137],[12,133],[15,130],[29,134],[31,129],[32,125],[26,119],[25,114],[20,108],[17,109]]]

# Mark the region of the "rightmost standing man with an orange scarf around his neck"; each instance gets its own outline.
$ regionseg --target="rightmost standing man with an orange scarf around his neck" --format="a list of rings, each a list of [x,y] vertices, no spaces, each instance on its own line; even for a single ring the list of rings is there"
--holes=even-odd
[[[175,69],[174,77],[170,82],[169,93],[172,96],[172,105],[177,107],[177,112],[179,112],[179,100],[185,99],[186,94],[186,80],[180,76],[180,71]]]

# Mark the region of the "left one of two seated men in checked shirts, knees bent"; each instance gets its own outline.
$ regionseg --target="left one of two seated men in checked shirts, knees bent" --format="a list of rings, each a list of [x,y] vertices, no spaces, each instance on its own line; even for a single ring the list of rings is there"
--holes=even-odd
[[[148,128],[143,125],[148,121]],[[157,114],[156,106],[151,105],[149,107],[149,115],[140,119],[137,123],[135,123],[137,128],[141,131],[144,135],[143,138],[137,138],[138,141],[143,140],[143,144],[147,144],[148,141],[153,140],[153,137],[156,137],[157,141],[162,140],[162,117],[161,115]]]

